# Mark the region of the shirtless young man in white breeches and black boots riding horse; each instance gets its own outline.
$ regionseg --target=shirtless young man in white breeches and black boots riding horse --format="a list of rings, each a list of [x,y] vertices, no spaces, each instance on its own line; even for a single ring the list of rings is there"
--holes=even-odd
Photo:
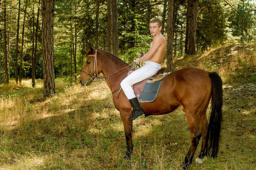
[[[137,58],[134,62],[146,62],[146,64],[132,72],[128,75],[122,82],[121,87],[124,90],[126,97],[133,108],[133,114],[128,120],[134,120],[140,115],[144,114],[137,97],[134,94],[132,85],[155,74],[157,70],[161,68],[161,63],[164,60],[164,55],[166,52],[166,40],[161,33],[162,22],[158,19],[153,19],[149,23],[150,33],[153,35],[154,39],[150,43],[150,48],[148,53],[143,57]]]

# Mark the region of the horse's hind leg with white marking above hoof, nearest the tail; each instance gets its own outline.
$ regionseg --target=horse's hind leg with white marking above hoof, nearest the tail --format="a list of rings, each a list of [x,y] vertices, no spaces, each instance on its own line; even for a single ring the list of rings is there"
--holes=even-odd
[[[208,121],[205,112],[200,117],[200,127],[202,132],[202,146],[198,158],[195,159],[197,163],[202,163],[206,159],[207,148],[205,148],[205,142],[207,137]]]

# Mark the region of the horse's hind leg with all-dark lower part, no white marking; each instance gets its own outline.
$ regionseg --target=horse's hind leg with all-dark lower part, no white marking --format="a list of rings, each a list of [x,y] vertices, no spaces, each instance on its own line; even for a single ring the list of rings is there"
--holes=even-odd
[[[195,154],[195,150],[198,146],[199,140],[201,138],[201,131],[200,131],[200,124],[199,124],[199,117],[193,117],[193,119],[188,119],[188,125],[190,130],[190,138],[191,138],[191,144],[189,151],[183,161],[182,168],[187,169],[188,166],[192,163],[193,156]],[[194,122],[194,123],[192,123]]]

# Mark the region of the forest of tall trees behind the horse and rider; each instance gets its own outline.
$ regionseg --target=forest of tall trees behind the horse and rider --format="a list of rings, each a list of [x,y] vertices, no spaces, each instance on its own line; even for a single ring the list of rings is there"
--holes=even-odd
[[[52,15],[44,18],[47,4]],[[0,5],[1,84],[31,78],[34,86],[35,79],[45,79],[48,65],[52,81],[76,82],[90,44],[130,63],[149,48],[152,18],[162,20],[169,72],[173,57],[256,40],[255,0],[0,0]],[[48,25],[52,33],[44,31]],[[53,44],[48,47],[54,62],[45,68],[43,42]]]

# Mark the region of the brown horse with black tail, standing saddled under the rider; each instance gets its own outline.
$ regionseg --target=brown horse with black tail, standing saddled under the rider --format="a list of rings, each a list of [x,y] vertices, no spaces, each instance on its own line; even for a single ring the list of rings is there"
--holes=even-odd
[[[80,75],[82,86],[90,85],[97,78],[105,78],[112,92],[113,102],[119,110],[126,136],[126,158],[132,154],[132,115],[131,105],[120,88],[121,81],[127,76],[130,65],[103,50],[90,46],[87,60]],[[98,77],[103,73],[103,77]],[[121,91],[120,91],[121,90]],[[211,103],[211,116],[208,125],[206,111]],[[220,128],[222,122],[222,80],[217,73],[199,68],[183,68],[168,74],[159,89],[154,102],[141,103],[145,115],[163,115],[183,108],[190,130],[191,145],[182,163],[187,169],[202,137],[202,147],[197,162],[202,163],[207,154],[216,157],[219,148]]]

